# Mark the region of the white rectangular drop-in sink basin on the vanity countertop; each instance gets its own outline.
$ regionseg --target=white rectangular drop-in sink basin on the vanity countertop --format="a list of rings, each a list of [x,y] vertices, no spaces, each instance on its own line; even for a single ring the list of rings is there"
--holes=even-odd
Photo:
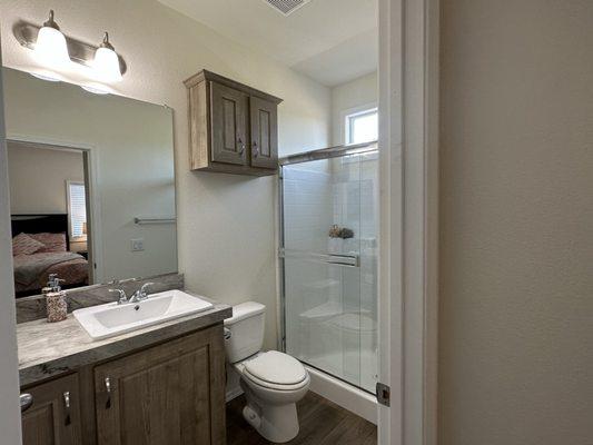
[[[186,315],[208,310],[214,305],[181,290],[149,295],[139,303],[108,303],[77,309],[72,314],[93,340],[112,337]]]

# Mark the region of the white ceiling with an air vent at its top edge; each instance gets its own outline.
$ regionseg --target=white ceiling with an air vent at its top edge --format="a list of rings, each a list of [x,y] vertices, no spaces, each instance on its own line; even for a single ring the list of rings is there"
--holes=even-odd
[[[328,87],[377,69],[377,0],[312,0],[288,17],[265,0],[159,1]]]

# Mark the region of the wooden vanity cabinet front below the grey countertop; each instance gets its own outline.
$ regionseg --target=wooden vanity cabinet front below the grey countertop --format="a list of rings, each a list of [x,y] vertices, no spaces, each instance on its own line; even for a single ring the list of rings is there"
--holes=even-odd
[[[24,389],[23,443],[224,445],[223,338],[218,324]]]

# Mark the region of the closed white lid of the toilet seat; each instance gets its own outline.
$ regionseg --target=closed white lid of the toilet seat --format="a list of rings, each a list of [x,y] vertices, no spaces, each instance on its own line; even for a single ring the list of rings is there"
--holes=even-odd
[[[300,362],[277,350],[263,353],[246,362],[245,370],[260,380],[277,385],[295,385],[307,377]]]

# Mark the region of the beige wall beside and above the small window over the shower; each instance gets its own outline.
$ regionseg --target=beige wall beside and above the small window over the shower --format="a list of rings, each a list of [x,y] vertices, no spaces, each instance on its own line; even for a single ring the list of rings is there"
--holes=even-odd
[[[332,89],[332,145],[345,142],[346,115],[378,103],[377,72],[354,79]]]

